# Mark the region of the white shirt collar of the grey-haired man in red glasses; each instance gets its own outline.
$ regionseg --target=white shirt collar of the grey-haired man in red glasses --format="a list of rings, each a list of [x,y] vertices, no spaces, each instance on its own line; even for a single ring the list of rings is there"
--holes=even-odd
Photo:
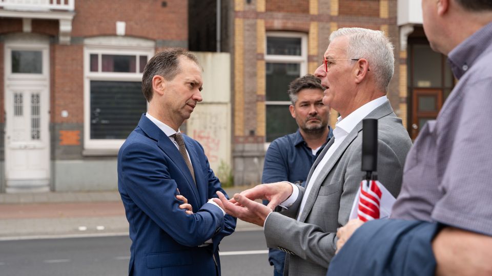
[[[333,130],[335,140],[350,133],[355,126],[362,121],[362,119],[364,119],[374,109],[387,102],[387,100],[388,99],[386,96],[377,98],[357,108],[345,118],[342,118],[341,116],[338,117],[337,123],[335,124],[335,129]]]

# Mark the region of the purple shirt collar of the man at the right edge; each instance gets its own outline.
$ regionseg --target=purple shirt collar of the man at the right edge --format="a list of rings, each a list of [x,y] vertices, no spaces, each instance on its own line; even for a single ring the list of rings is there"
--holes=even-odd
[[[448,60],[456,78],[460,79],[475,63],[478,57],[486,52],[492,40],[492,22],[469,36],[449,52]]]

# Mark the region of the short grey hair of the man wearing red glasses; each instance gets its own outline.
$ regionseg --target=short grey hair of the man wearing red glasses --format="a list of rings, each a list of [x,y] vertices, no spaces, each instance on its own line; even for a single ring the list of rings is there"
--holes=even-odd
[[[367,59],[376,85],[387,93],[389,81],[395,72],[393,43],[383,31],[363,28],[338,29],[330,35],[330,41],[341,36],[348,37],[347,58]]]

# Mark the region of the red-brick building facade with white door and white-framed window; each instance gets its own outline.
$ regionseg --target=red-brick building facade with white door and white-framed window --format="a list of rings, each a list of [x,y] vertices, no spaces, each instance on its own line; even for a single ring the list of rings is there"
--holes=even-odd
[[[29,3],[0,5],[0,188],[116,189],[118,148],[146,111],[143,66],[188,47],[188,2]]]

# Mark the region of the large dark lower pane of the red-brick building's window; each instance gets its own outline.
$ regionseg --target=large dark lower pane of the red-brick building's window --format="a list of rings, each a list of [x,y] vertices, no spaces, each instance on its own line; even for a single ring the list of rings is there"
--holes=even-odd
[[[91,139],[126,139],[147,102],[141,82],[91,81]]]

